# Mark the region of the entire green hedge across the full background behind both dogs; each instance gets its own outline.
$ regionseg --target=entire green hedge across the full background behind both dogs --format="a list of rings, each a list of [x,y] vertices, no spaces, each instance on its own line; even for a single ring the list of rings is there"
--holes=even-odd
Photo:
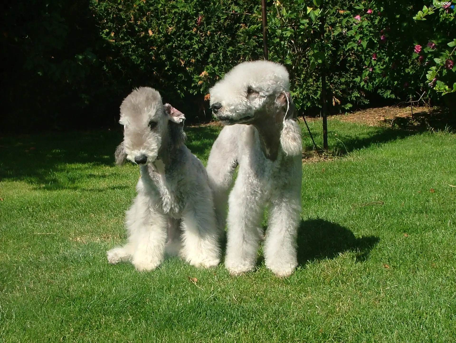
[[[301,113],[319,111],[323,61],[334,111],[374,97],[398,102],[422,92],[435,97],[425,76],[439,58],[438,77],[451,88],[456,67],[451,73],[442,66],[454,59],[454,51],[445,50],[446,40],[456,37],[454,11],[445,14],[452,19],[432,15],[417,21],[413,17],[423,1],[325,2],[324,43],[320,0],[268,2],[269,58],[290,71]],[[209,120],[208,89],[239,62],[263,57],[259,4],[18,0],[3,5],[0,130],[114,126],[120,102],[138,86],[158,89],[190,122]],[[428,40],[438,49],[425,47]],[[413,55],[416,44],[425,47],[421,60]],[[435,81],[437,88],[442,84]]]

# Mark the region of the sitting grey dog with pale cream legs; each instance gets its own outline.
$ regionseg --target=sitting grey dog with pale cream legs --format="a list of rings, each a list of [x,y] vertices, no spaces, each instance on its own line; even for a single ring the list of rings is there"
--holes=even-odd
[[[184,120],[150,87],[134,90],[122,102],[124,140],[116,163],[138,164],[141,176],[125,218],[128,242],[108,251],[110,263],[130,260],[139,271],[153,270],[176,245],[193,266],[220,261],[212,191],[206,169],[185,145]]]

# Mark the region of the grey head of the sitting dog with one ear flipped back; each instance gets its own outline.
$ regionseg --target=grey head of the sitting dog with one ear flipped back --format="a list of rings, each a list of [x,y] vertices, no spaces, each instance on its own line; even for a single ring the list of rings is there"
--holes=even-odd
[[[183,140],[185,117],[169,104],[162,104],[160,93],[150,87],[140,87],[130,93],[120,105],[119,123],[124,125],[124,141],[115,152],[116,164],[125,160],[149,164],[157,159],[163,138],[171,131],[171,139]],[[168,122],[176,128],[168,130]]]

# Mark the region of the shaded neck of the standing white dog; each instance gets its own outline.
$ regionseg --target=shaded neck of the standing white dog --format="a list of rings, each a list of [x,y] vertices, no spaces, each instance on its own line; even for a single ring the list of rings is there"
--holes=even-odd
[[[266,109],[255,113],[255,119],[249,124],[253,125],[259,134],[261,150],[264,156],[275,161],[280,150],[280,133],[283,128],[283,114],[268,112]]]

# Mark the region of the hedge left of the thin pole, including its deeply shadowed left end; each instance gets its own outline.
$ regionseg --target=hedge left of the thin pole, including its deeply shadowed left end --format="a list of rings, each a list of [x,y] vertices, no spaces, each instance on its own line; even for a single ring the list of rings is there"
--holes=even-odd
[[[11,3],[0,24],[0,130],[112,126],[138,86],[157,88],[189,120],[208,120],[208,88],[261,56],[254,10],[247,1]]]

